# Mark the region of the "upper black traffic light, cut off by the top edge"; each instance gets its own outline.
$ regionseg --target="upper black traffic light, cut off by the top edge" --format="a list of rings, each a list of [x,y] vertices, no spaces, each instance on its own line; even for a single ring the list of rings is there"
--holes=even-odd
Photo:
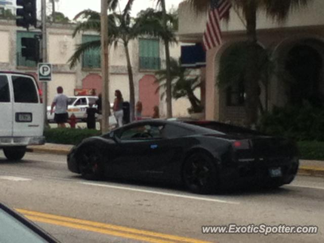
[[[22,8],[16,10],[16,25],[27,29],[29,25],[36,27],[36,0],[17,0],[17,6]]]

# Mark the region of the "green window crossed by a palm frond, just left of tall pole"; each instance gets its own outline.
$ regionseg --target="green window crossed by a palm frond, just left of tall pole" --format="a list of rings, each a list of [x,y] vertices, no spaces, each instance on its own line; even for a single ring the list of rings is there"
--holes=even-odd
[[[83,35],[82,43],[99,41],[99,35]],[[101,67],[101,55],[100,48],[92,48],[84,52],[82,56],[82,67],[83,68],[100,68]]]

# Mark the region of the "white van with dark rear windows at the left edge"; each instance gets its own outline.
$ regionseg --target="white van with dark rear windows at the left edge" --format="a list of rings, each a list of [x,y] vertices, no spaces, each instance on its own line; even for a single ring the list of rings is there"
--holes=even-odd
[[[27,145],[45,143],[44,105],[32,75],[0,71],[0,149],[21,159]]]

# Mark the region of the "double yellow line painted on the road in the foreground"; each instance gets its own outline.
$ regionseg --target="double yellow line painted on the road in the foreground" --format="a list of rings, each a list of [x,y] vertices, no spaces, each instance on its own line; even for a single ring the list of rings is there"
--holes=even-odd
[[[162,233],[146,231],[146,230],[139,230],[139,229],[117,226],[117,225],[112,225],[112,224],[104,224],[104,223],[88,221],[88,220],[68,218],[68,217],[39,213],[39,212],[28,211],[28,210],[23,210],[23,209],[16,209],[16,210],[18,212],[24,214],[26,217],[33,217],[33,218],[42,219],[42,220],[54,220],[54,221],[57,221],[60,223],[72,223],[72,225],[77,225],[78,227],[90,226],[90,227],[94,227],[96,229],[100,228],[99,230],[108,229],[108,231],[113,230],[113,232],[115,232],[116,230],[122,231],[122,232],[118,232],[121,234],[123,234],[124,232],[131,233],[131,234],[141,234],[141,235],[145,235],[145,236],[153,236],[153,237],[158,237],[158,238],[162,238],[162,239],[176,240],[176,241],[188,242],[188,243],[210,243],[210,241],[202,241],[202,240],[198,240],[198,239],[186,238],[186,237],[181,237],[181,236],[176,236],[176,235],[162,234]],[[68,227],[70,227],[70,226],[68,226]]]

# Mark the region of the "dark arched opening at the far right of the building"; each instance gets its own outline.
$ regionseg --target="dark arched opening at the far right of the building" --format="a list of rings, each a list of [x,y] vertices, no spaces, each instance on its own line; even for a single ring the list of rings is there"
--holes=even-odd
[[[285,68],[291,77],[289,104],[302,106],[307,101],[313,106],[324,105],[323,59],[318,50],[307,43],[295,45],[288,52]]]

